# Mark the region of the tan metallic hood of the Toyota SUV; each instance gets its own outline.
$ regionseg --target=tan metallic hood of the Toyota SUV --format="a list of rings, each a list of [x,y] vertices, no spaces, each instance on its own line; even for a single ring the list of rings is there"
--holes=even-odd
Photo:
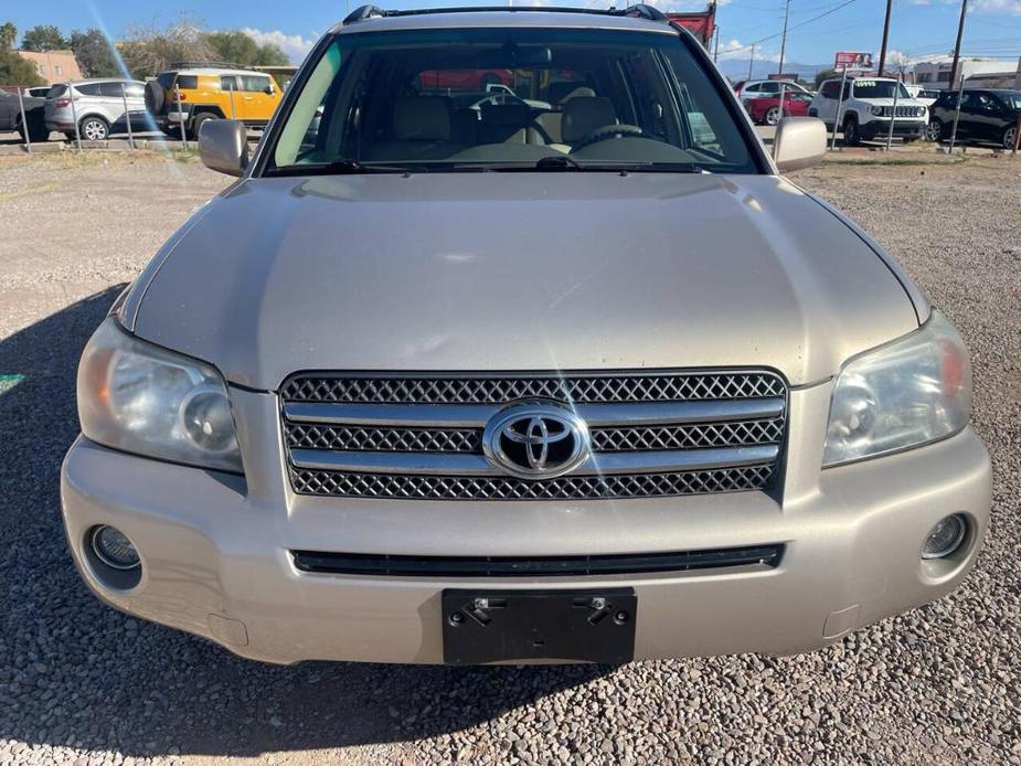
[[[768,175],[253,179],[166,249],[136,333],[260,390],[301,370],[768,366],[797,385],[918,327],[862,235]]]

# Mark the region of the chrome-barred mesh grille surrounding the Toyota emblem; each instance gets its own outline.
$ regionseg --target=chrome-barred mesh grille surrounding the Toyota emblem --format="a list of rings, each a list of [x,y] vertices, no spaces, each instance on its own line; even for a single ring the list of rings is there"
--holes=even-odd
[[[768,489],[787,386],[770,372],[408,375],[309,373],[281,387],[299,494],[419,500],[571,500]],[[592,453],[572,472],[522,479],[482,449],[521,401],[567,404]]]

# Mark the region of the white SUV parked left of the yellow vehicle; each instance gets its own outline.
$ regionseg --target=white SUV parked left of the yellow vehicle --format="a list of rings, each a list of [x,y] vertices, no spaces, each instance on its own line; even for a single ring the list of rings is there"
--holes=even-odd
[[[81,136],[83,140],[103,141],[111,134],[127,131],[129,119],[132,130],[151,129],[146,114],[145,83],[84,79],[54,85],[46,94],[47,130],[59,130],[72,140]]]

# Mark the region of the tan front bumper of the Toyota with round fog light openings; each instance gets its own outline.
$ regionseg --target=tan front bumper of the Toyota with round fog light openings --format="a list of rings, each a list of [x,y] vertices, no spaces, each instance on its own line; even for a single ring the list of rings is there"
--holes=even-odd
[[[111,606],[270,662],[442,662],[443,591],[493,587],[634,587],[636,659],[807,651],[954,589],[975,562],[990,507],[989,459],[970,429],[819,470],[829,394],[828,384],[791,392],[776,498],[445,503],[293,494],[276,398],[234,390],[247,481],[82,438],[62,471],[65,528],[82,576]],[[923,562],[924,538],[949,513],[971,522],[968,543],[951,560]],[[96,576],[84,553],[96,524],[137,544],[137,586],[120,591]],[[290,554],[547,556],[767,544],[785,546],[776,567],[498,581],[310,574]]]

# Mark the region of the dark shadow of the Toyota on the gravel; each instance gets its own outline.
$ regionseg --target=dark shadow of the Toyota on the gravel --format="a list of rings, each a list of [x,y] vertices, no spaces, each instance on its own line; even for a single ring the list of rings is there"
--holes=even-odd
[[[120,289],[0,341],[0,741],[137,757],[417,740],[611,672],[266,666],[102,605],[67,554],[57,479],[78,429],[77,360]]]

